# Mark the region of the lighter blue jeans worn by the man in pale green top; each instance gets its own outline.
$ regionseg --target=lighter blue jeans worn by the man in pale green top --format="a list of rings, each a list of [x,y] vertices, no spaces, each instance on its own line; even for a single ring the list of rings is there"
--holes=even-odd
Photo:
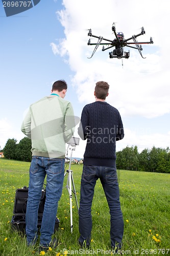
[[[65,159],[33,156],[30,165],[29,194],[26,211],[27,244],[37,241],[38,208],[46,176],[46,199],[40,229],[40,245],[49,246],[54,233],[58,201],[62,195]]]

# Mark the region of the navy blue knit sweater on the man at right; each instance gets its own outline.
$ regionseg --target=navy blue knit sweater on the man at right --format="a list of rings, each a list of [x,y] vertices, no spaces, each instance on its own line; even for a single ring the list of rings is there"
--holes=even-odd
[[[117,109],[105,101],[84,106],[78,129],[86,140],[85,165],[115,166],[116,140],[124,138],[124,127]]]

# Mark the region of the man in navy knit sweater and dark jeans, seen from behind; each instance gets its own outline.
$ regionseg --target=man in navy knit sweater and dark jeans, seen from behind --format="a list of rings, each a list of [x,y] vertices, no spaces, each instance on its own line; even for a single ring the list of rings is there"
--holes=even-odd
[[[107,82],[96,83],[95,102],[84,106],[78,129],[81,139],[87,139],[81,179],[79,244],[90,246],[91,204],[96,180],[100,179],[110,208],[111,248],[117,251],[122,247],[124,221],[119,201],[115,150],[116,141],[124,138],[124,127],[118,110],[105,101],[108,91]]]

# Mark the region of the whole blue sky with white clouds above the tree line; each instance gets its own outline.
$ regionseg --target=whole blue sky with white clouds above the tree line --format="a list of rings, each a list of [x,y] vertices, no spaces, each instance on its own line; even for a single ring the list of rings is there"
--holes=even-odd
[[[83,106],[94,101],[95,82],[110,84],[108,103],[122,116],[125,138],[117,142],[117,151],[138,146],[139,152],[152,146],[170,146],[169,86],[169,14],[164,0],[41,0],[33,8],[6,17],[0,3],[0,146],[8,138],[19,143],[23,113],[31,103],[49,95],[54,81],[68,83],[67,100],[76,116]],[[109,59],[109,50],[87,46],[92,34],[112,39],[112,23],[125,38],[140,33],[138,41],[153,37],[153,45],[143,45],[141,58],[130,50],[130,58]],[[114,39],[114,38],[113,38]],[[95,42],[95,39],[91,38]],[[77,135],[77,128],[75,132]],[[73,156],[83,157],[85,143],[80,142]]]

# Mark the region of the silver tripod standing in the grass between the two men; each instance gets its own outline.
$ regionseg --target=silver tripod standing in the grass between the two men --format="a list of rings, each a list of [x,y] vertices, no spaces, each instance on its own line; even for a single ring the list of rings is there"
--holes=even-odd
[[[77,204],[77,209],[79,211],[79,206],[78,206],[78,200],[77,200],[77,195],[76,195],[76,188],[75,188],[75,184],[74,184],[74,179],[72,176],[72,170],[71,170],[71,159],[72,159],[72,151],[75,151],[76,149],[76,144],[70,144],[70,148],[71,150],[71,154],[70,154],[70,160],[69,160],[69,168],[68,170],[66,170],[66,172],[64,173],[64,177],[68,174],[67,177],[67,185],[65,186],[68,190],[68,194],[69,194],[69,205],[70,205],[70,226],[71,226],[71,233],[72,233],[72,193],[75,195],[75,199],[76,199],[76,204]],[[71,186],[73,187],[73,190],[71,188]],[[63,188],[65,188],[63,187]]]

